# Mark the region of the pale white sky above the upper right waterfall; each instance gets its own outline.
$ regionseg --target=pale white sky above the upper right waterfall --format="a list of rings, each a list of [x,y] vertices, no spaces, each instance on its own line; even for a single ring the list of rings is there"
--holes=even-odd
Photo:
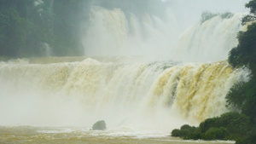
[[[245,3],[250,0],[166,0],[177,20],[191,25],[201,19],[202,12],[212,13],[246,13]],[[167,4],[167,3],[166,3]],[[188,23],[188,24],[187,24]]]

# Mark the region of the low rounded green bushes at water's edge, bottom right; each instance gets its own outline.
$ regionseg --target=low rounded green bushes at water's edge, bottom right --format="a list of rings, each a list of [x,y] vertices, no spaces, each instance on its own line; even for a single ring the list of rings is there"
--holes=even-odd
[[[238,112],[227,112],[216,118],[207,118],[199,127],[185,124],[180,130],[172,130],[172,136],[183,139],[238,140],[247,135],[249,118]]]

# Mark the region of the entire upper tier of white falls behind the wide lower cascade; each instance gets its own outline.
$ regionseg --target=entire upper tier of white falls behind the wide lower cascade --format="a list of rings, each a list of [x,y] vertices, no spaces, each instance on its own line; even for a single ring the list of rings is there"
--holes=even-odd
[[[166,20],[154,15],[124,14],[120,9],[91,9],[90,26],[84,33],[85,55],[147,55],[149,60],[226,60],[237,44],[236,33],[244,14],[220,15],[184,29],[172,9]],[[185,31],[184,31],[185,30]]]

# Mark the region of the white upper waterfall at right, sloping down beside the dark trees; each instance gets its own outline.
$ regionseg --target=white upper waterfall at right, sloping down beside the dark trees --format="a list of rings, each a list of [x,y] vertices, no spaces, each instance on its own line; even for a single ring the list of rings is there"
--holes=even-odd
[[[184,61],[218,61],[226,60],[230,49],[236,47],[237,32],[244,30],[241,26],[243,14],[234,14],[229,18],[221,15],[199,22],[185,32],[173,50],[175,60]]]

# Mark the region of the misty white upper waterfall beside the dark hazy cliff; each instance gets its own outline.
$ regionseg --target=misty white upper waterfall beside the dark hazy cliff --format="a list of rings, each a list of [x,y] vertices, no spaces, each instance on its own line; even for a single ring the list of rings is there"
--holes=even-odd
[[[160,55],[171,52],[177,30],[154,15],[124,14],[121,9],[94,7],[84,32],[85,55]],[[173,42],[173,43],[172,43]]]

